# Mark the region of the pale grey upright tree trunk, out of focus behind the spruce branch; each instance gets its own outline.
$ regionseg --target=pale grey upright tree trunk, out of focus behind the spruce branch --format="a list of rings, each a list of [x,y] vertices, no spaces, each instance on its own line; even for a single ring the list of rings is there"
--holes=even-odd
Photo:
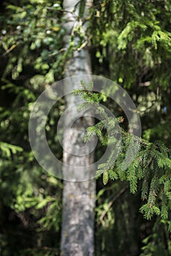
[[[70,34],[74,36],[74,47],[77,46],[79,41],[79,37],[74,31],[77,24],[80,23],[80,20],[77,19],[78,2],[77,0],[64,0],[64,10],[67,11],[64,16],[66,19],[64,26],[67,31],[65,37],[66,48],[69,47]],[[84,18],[88,15],[91,4],[91,0],[86,1],[83,12]],[[86,24],[83,26],[83,31],[86,31]],[[70,85],[71,90],[75,89],[73,75],[83,74],[91,74],[91,61],[86,48],[74,50],[72,57],[67,61],[65,77],[69,77],[70,83],[67,83],[66,86]],[[61,255],[88,256],[94,255],[95,180],[92,178],[92,170],[88,170],[89,173],[83,170],[85,166],[93,163],[94,155],[87,154],[86,149],[84,150],[83,135],[86,127],[94,124],[94,119],[90,116],[80,118],[80,112],[77,110],[77,102],[80,101],[78,97],[69,94],[65,96],[65,99],[68,111],[64,117],[63,145],[66,148],[64,149],[64,165],[68,165],[69,168],[64,166],[63,170]],[[71,125],[72,121],[74,122]],[[75,148],[76,151],[82,152],[80,156],[75,154]],[[80,167],[80,171],[75,170],[75,165]],[[72,173],[72,177],[69,177],[68,173]]]

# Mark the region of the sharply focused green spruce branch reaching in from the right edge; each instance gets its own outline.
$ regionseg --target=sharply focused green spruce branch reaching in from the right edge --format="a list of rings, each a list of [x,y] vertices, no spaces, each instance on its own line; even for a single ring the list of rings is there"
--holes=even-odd
[[[107,129],[115,129],[115,122],[121,123],[123,118],[119,116],[115,120],[107,116],[104,109],[99,105],[100,94],[92,92],[93,83],[88,86],[81,81],[81,88],[73,91],[75,95],[81,95],[85,103],[80,109],[85,109],[93,105],[96,112],[101,116],[101,121],[92,127],[88,127],[84,142],[91,140],[96,135],[102,142],[102,145],[115,146],[115,134],[107,135]],[[141,187],[141,198],[145,203],[140,208],[140,212],[146,219],[151,219],[154,214],[159,215],[161,219],[168,220],[169,229],[169,211],[171,209],[171,159],[170,149],[166,148],[161,141],[149,143],[142,138],[130,135],[124,129],[121,129],[122,142],[121,151],[114,161],[115,150],[110,154],[107,162],[99,165],[96,171],[97,176],[103,175],[103,184],[109,181],[120,179],[129,181],[130,192],[137,192]],[[134,143],[140,143],[140,151],[126,170],[123,170],[122,162],[125,157],[126,149],[133,138]]]

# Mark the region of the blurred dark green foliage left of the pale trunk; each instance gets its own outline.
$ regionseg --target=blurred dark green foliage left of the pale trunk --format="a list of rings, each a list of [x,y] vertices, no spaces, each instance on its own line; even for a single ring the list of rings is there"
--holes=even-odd
[[[53,7],[56,4],[56,7]],[[62,78],[60,3],[4,1],[1,9],[1,239],[0,255],[56,255],[60,244],[60,180],[35,161],[28,142],[34,101],[47,85]],[[50,31],[50,34],[48,34]],[[54,51],[56,49],[56,51]],[[57,69],[58,67],[58,69]],[[62,157],[53,109],[46,130]]]

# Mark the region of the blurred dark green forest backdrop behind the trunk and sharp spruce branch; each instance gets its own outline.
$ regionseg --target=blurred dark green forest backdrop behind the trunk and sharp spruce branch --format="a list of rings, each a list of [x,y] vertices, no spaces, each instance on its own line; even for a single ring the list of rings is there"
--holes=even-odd
[[[72,40],[64,48],[63,13],[63,1],[0,3],[1,256],[60,255],[63,183],[34,159],[28,120],[39,94],[64,78],[73,48]],[[140,111],[142,138],[161,140],[170,148],[170,0],[94,0],[88,24],[78,48],[86,40],[93,74],[128,91]],[[112,110],[113,102],[107,104]],[[64,105],[61,99],[46,124],[47,141],[58,159],[62,148],[56,124]],[[103,150],[97,148],[96,158]],[[102,178],[96,181],[96,256],[171,255],[170,217],[145,219],[139,187],[132,195],[128,181],[109,181],[106,186]]]

